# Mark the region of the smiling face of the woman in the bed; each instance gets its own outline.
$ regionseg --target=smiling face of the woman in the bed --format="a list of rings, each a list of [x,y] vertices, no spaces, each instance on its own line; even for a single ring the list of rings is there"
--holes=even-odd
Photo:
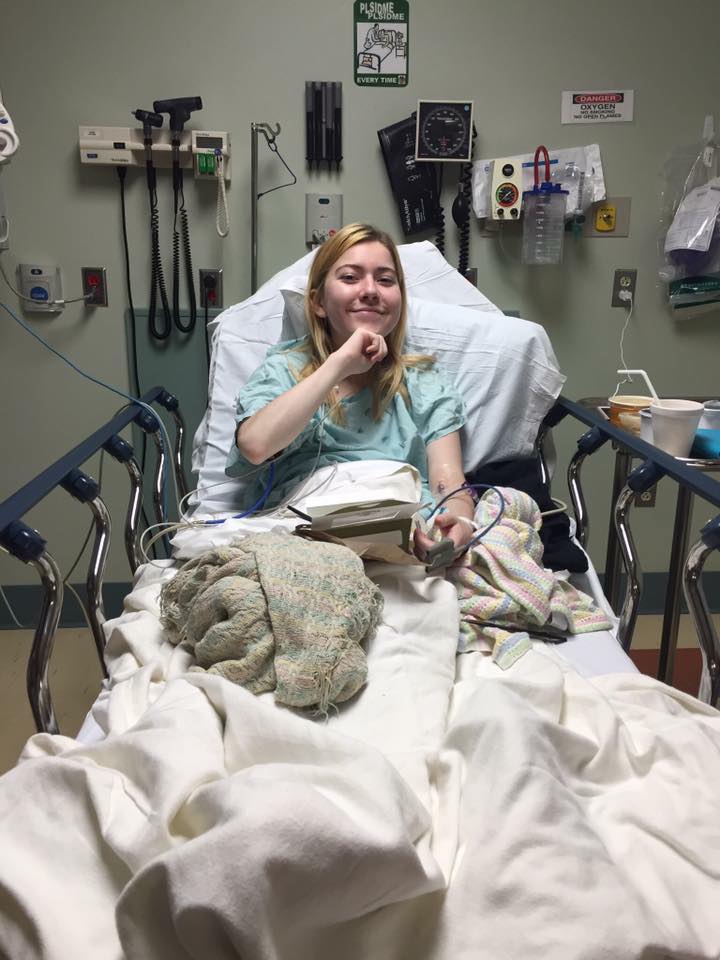
[[[377,240],[350,247],[328,271],[313,308],[327,319],[336,349],[359,328],[386,337],[402,311],[402,292],[387,247]]]

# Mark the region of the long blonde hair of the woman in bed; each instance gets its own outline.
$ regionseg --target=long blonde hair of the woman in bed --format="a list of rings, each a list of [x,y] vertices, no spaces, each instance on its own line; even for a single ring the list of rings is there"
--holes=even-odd
[[[410,396],[405,384],[407,368],[430,366],[435,362],[435,357],[428,354],[404,354],[402,352],[407,331],[405,274],[397,247],[392,237],[383,230],[378,230],[377,227],[372,227],[366,223],[351,223],[338,230],[334,237],[326,240],[318,249],[310,268],[305,290],[305,320],[308,328],[306,351],[309,354],[309,360],[298,374],[298,379],[303,380],[305,377],[309,377],[311,373],[322,366],[334,351],[330,325],[324,318],[319,317],[314,309],[314,302],[317,299],[322,299],[325,281],[332,266],[351,247],[358,243],[369,242],[381,243],[390,254],[400,287],[402,304],[397,324],[385,337],[388,348],[387,356],[381,363],[372,368],[371,373],[370,389],[373,398],[373,418],[380,420],[397,393],[400,394],[407,406],[410,406]],[[342,406],[336,403],[336,398],[328,395],[326,403],[330,410],[330,419],[334,420],[335,423],[344,424],[345,411]]]

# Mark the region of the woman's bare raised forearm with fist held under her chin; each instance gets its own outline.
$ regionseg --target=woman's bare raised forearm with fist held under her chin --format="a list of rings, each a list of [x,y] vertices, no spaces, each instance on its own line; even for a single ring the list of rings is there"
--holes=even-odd
[[[284,450],[307,426],[336,383],[365,373],[387,353],[385,340],[356,330],[321,367],[243,420],[235,433],[238,450],[250,463],[264,463]]]

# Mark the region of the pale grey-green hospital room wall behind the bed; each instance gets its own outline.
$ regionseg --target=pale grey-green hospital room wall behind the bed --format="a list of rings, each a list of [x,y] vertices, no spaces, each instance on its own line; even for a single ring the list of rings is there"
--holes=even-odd
[[[83,264],[108,268],[112,306],[68,307],[55,320],[31,319],[60,350],[94,375],[128,386],[123,333],[124,270],[118,188],[109,168],[78,160],[81,123],[129,125],[130,111],[160,97],[200,94],[197,125],[232,135],[232,229],[214,230],[214,191],[188,181],[196,266],[221,265],[226,303],[244,299],[250,277],[251,121],[279,122],[280,149],[297,187],[260,203],[260,277],[304,252],[304,193],[341,192],[347,221],[364,219],[400,230],[378,148],[378,128],[406,117],[418,97],[473,98],[477,156],[597,141],[608,190],[632,197],[630,236],[570,242],[560,268],[527,270],[478,236],[471,264],[480,288],[506,309],[542,323],[568,375],[571,397],[607,394],[614,386],[624,311],[609,307],[613,270],[638,269],[636,308],[625,341],[628,361],[652,372],[670,393],[720,393],[720,315],[683,326],[668,316],[656,282],[659,172],[674,144],[697,139],[717,109],[716,46],[720,8],[701,0],[412,0],[410,85],[358,88],[352,75],[352,3],[306,0],[229,3],[204,0],[9,0],[0,27],[0,89],[21,137],[21,149],[0,176],[12,215],[12,247],[4,260],[59,263],[65,293],[78,290]],[[307,79],[342,80],[345,161],[339,176],[310,174],[304,164],[303,89]],[[560,125],[560,92],[571,88],[635,90],[631,124]],[[720,123],[720,115],[718,116]],[[284,170],[261,154],[264,187]],[[449,176],[446,209],[452,199]],[[161,179],[163,247],[169,254],[169,178]],[[128,176],[128,215],[136,304],[146,305],[146,192],[141,171]],[[456,260],[454,229],[448,256]],[[509,241],[509,254],[518,247]],[[166,258],[166,263],[169,261]],[[6,290],[3,298],[16,308]],[[31,315],[32,316],[32,315]],[[198,358],[198,377],[203,363]],[[0,498],[108,418],[119,401],[46,354],[6,316],[0,318],[2,471]],[[572,434],[560,431],[567,456]],[[609,454],[587,470],[594,519],[591,551],[602,567],[611,481]],[[124,474],[106,472],[108,500],[122,510]],[[557,491],[562,495],[562,487]],[[638,515],[636,535],[648,570],[666,567],[672,496]],[[698,520],[709,510],[698,508]],[[30,517],[67,568],[82,540],[79,506],[56,494]],[[71,522],[72,521],[72,522]],[[116,548],[108,579],[126,576]],[[30,571],[0,558],[0,582],[32,582]]]

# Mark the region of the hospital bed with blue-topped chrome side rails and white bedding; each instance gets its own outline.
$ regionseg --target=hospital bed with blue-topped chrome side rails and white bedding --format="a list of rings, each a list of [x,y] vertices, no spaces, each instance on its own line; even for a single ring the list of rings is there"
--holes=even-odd
[[[385,608],[368,645],[367,686],[324,721],[278,708],[270,694],[193,672],[189,652],[167,642],[158,606],[179,562],[277,521],[187,528],[172,559],[141,564],[140,478],[117,437],[131,422],[153,437],[157,429],[144,411],[121,412],[0,504],[3,545],[36,565],[45,589],[28,672],[38,729],[56,730],[47,667],[62,578],[51,545],[22,517],[59,483],[96,519],[88,613],[107,673],[77,738],[39,734],[0,779],[0,953],[720,955],[720,715],[640,675],[627,656],[641,583],[628,491],[665,476],[720,508],[720,484],[559,397],[544,331],[504,317],[430,244],[400,252],[409,349],[436,353],[466,397],[468,474],[537,457],[548,481],[548,431],[577,420],[573,546],[586,557],[581,462],[607,442],[641,461],[614,505],[629,573],[620,617],[589,565],[572,579],[613,629],[536,642],[501,670],[480,652],[457,655],[457,598],[445,579],[368,564]],[[196,521],[243,505],[223,473],[234,396],[270,344],[301,332],[309,259],[214,324],[208,411],[193,446]],[[175,398],[158,388],[144,399],[164,403],[181,425]],[[81,470],[101,447],[131,477],[125,537],[135,579],[112,621],[100,595],[107,518]],[[162,515],[159,465],[169,452],[159,440],[157,448]],[[181,444],[171,459],[181,473]],[[718,527],[702,531],[686,573],[708,702],[720,651],[700,576]]]

